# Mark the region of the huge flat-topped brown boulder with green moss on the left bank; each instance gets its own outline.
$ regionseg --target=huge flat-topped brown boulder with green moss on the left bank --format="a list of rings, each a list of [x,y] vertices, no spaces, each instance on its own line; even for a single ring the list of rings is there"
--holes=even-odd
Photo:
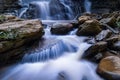
[[[41,38],[43,34],[43,27],[39,20],[24,20],[0,24],[0,63],[6,61],[6,57],[8,59],[16,55],[17,51],[14,53],[9,51],[19,50],[19,47]],[[20,55],[20,53],[17,55]]]

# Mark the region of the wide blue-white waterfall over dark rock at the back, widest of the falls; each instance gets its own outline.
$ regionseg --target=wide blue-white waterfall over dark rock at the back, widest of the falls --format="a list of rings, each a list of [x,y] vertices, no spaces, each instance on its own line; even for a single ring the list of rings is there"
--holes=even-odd
[[[23,0],[21,3],[28,6],[27,9],[21,9],[19,17],[39,18],[41,20],[71,20],[74,19],[71,3],[65,3],[65,0]],[[24,17],[24,15],[26,15]]]

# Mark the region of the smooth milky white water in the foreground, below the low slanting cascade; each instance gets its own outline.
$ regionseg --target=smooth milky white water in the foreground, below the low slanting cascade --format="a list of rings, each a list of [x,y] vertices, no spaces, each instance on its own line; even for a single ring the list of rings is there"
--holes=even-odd
[[[3,70],[1,80],[102,80],[96,75],[96,65],[79,61],[81,55],[90,45],[81,43],[76,53],[64,54],[62,57],[47,62],[24,63]],[[78,59],[79,58],[79,59]],[[62,75],[65,79],[60,75]]]

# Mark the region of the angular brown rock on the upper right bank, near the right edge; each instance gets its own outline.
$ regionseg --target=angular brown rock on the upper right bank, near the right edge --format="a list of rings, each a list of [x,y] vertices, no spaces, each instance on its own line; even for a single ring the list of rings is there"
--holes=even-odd
[[[116,18],[115,17],[110,17],[110,18],[103,18],[100,20],[101,23],[108,24],[111,27],[116,26]]]

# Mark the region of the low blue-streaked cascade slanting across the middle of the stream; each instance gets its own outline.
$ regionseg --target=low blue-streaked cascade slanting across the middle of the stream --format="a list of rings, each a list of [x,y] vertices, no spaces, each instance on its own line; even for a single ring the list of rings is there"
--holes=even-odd
[[[84,39],[81,40],[83,41]],[[63,55],[64,52],[76,52],[79,46],[78,43],[82,41],[77,36],[59,36],[54,44],[26,54],[22,62],[39,62],[56,59]]]

